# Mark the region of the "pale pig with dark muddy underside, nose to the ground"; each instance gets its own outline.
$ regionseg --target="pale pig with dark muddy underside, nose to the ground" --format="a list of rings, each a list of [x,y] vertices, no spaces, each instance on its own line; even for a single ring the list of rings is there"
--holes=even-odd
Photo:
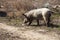
[[[22,14],[25,16],[24,24],[30,25],[33,20],[37,21],[37,25],[39,25],[39,20],[43,19],[46,23],[46,26],[50,25],[50,17],[51,17],[52,11],[48,8],[40,8],[40,9],[34,9],[31,10],[25,14]]]

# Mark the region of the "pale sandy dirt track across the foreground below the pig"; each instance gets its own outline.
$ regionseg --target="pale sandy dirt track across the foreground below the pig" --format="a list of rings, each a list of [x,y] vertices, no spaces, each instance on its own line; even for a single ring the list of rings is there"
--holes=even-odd
[[[15,27],[0,23],[0,40],[60,40],[60,34],[40,27]]]

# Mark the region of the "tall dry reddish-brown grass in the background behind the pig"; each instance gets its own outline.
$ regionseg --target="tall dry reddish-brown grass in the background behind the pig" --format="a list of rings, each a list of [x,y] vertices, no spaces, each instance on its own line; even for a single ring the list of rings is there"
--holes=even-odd
[[[9,15],[10,12],[12,12],[12,15],[13,13],[15,15],[21,15],[22,13],[25,13],[31,9],[40,8],[46,2],[51,3],[51,1],[52,0],[0,0],[0,4],[4,6],[3,9],[5,9]],[[55,4],[55,1],[56,4],[60,3],[59,0],[53,0],[51,4]]]

